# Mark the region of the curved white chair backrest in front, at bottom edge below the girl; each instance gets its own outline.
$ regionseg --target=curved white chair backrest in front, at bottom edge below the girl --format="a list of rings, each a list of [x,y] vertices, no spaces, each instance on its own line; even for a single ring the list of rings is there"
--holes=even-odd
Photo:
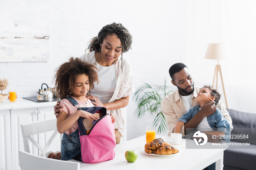
[[[19,162],[21,170],[80,170],[79,162],[39,157],[21,150],[19,150]]]

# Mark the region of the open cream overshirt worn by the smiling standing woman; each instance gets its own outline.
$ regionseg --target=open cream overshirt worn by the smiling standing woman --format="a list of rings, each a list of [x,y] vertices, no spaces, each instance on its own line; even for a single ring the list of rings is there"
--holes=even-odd
[[[91,53],[85,53],[81,57],[82,61],[90,62],[97,67],[98,63],[95,59],[95,51]],[[118,100],[122,97],[129,96],[130,94],[135,92],[135,88],[133,86],[133,73],[131,63],[127,61],[127,59],[123,58],[123,72],[121,69],[121,61],[118,59],[114,62],[114,68],[116,71],[116,89],[112,98],[108,101],[108,103],[112,103],[115,100]],[[99,80],[99,84],[104,83]],[[93,89],[91,90],[93,93]],[[97,97],[97,96],[96,96]],[[113,114],[116,116],[116,123],[114,123],[115,129],[123,134],[124,127],[125,127],[125,120],[124,120],[124,111],[123,109],[116,109],[116,110],[108,110],[107,113]]]

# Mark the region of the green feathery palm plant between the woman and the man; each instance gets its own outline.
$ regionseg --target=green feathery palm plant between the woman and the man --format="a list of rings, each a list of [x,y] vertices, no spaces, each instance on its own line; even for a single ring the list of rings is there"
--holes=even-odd
[[[166,80],[163,85],[149,85],[144,83],[135,91],[135,95],[133,96],[133,100],[138,105],[135,115],[141,118],[146,113],[151,113],[155,116],[153,125],[156,128],[158,127],[158,132],[166,132],[168,127],[161,109],[161,101],[167,94],[174,90],[174,87],[166,86]]]

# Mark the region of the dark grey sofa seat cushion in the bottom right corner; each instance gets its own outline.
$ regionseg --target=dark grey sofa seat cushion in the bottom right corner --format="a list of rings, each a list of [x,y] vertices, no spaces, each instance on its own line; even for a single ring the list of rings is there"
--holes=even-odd
[[[255,148],[256,146],[252,145],[251,147]],[[256,150],[255,149],[227,149],[224,151],[223,165],[224,167],[229,166],[237,169],[255,170]]]

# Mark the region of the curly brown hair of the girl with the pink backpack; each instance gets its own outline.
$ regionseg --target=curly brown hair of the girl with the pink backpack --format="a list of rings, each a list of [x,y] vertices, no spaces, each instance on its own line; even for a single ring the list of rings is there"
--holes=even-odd
[[[94,82],[98,80],[97,67],[91,63],[81,61],[79,58],[71,57],[69,62],[63,63],[55,71],[55,86],[60,99],[68,97],[75,88],[76,76],[86,74],[89,77],[90,89],[94,88]],[[90,89],[88,92],[90,92]]]

